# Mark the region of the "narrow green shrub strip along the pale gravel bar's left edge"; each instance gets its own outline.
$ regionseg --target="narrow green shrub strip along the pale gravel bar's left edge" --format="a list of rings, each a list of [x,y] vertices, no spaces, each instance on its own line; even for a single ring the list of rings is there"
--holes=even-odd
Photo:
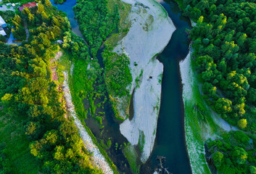
[[[124,120],[129,115],[129,106],[131,101],[131,69],[130,60],[125,54],[117,54],[112,52],[113,47],[117,45],[127,33],[131,22],[128,20],[128,12],[131,10],[131,5],[120,1],[115,1],[120,13],[118,23],[119,33],[113,34],[105,43],[105,49],[102,53],[105,66],[104,79],[107,86],[107,91],[110,96],[112,109],[115,117],[118,120]],[[110,2],[109,2],[110,4]]]

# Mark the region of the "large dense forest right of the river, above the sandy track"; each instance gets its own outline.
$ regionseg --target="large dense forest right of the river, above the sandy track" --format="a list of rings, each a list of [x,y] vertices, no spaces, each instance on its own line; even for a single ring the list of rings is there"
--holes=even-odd
[[[256,132],[255,1],[186,0],[184,5],[184,14],[197,21],[189,38],[208,104],[232,125],[246,119],[242,127]]]

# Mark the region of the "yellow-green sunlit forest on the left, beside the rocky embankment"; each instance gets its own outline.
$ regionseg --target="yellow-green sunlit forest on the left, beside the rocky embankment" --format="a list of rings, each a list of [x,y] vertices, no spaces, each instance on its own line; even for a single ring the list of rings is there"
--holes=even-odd
[[[23,21],[28,23],[30,37],[22,46],[0,43],[1,120],[20,120],[30,158],[41,173],[102,173],[94,168],[66,111],[62,85],[52,80],[50,61],[59,51],[54,41],[70,30],[66,14],[45,0],[15,15],[12,25],[17,36],[24,28]],[[9,167],[12,161],[5,149],[2,142],[0,173],[19,173]]]

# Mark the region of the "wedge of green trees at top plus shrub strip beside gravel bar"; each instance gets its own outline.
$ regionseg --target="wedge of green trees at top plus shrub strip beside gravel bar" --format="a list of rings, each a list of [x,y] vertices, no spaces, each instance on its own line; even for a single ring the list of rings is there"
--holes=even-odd
[[[128,31],[125,24],[126,17],[131,7],[122,1],[78,1],[74,7],[75,16],[78,18],[80,30],[86,38],[91,50],[91,57],[96,57],[100,46],[104,44],[102,55],[104,69],[104,84],[109,95],[112,109],[118,120],[123,120],[117,111],[117,97],[125,96],[125,110],[128,116],[129,99],[131,95],[127,89],[131,85],[131,70],[128,57],[112,52],[113,46],[117,44],[122,36]],[[118,30],[117,34],[112,34]],[[110,36],[107,42],[104,41]],[[99,58],[98,57],[98,58]],[[101,59],[101,58],[99,58]],[[98,68],[99,69],[99,68]],[[102,88],[103,89],[103,88]]]

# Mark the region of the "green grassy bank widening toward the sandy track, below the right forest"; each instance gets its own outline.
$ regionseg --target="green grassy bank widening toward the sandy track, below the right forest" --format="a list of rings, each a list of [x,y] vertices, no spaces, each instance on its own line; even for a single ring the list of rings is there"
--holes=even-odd
[[[186,58],[186,59],[191,59]],[[185,86],[191,86],[189,96],[184,94],[183,101],[185,109],[185,130],[186,130],[186,144],[189,152],[189,159],[191,168],[194,173],[209,173],[205,159],[205,141],[208,138],[215,138],[220,134],[220,129],[215,125],[211,117],[211,112],[199,91],[199,80],[195,76],[193,62],[189,64],[191,74],[189,78],[192,79],[186,82]],[[184,90],[184,88],[183,88]],[[204,116],[202,117],[203,114]]]

